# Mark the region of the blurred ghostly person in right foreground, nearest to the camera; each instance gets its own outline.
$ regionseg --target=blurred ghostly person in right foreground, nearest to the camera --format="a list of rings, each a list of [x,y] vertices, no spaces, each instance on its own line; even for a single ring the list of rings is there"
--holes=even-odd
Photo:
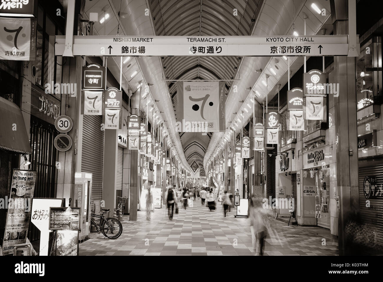
[[[267,214],[262,208],[262,197],[253,193],[249,199],[248,215],[250,219],[250,231],[255,256],[263,256],[264,241],[267,236]]]

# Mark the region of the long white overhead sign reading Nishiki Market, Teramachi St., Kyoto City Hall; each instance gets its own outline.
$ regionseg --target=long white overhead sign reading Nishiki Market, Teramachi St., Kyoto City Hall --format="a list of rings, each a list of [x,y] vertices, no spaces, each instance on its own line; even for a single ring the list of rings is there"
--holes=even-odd
[[[74,56],[347,56],[348,35],[74,36]],[[57,35],[62,56],[65,36]]]

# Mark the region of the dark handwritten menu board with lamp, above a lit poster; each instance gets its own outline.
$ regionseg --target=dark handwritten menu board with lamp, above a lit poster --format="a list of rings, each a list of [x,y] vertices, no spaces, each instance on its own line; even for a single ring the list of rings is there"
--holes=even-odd
[[[70,230],[80,228],[80,208],[67,207],[49,208],[49,230]]]

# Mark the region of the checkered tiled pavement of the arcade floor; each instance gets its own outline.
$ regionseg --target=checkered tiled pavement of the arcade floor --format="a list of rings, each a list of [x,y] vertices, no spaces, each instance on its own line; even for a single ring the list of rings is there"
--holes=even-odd
[[[254,255],[248,219],[234,218],[235,209],[224,217],[220,203],[211,212],[198,200],[187,210],[178,206],[179,214],[173,220],[169,220],[165,208],[155,209],[150,221],[145,211],[138,211],[135,222],[124,215],[123,233],[118,239],[91,233],[91,238],[80,244],[80,256]],[[338,254],[337,239],[328,230],[287,226],[280,221],[273,221],[273,225],[279,240],[266,239],[265,256]],[[326,246],[322,246],[322,238]]]

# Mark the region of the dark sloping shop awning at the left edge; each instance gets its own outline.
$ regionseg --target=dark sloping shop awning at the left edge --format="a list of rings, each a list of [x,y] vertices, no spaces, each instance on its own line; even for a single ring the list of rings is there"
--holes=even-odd
[[[0,149],[32,154],[20,108],[2,97],[0,97]]]

